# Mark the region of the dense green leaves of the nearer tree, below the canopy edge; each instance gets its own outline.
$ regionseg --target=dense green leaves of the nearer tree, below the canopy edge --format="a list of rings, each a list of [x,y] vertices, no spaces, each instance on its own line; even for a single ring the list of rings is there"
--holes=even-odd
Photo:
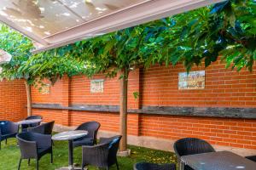
[[[83,59],[88,76],[103,72],[113,77],[125,71],[127,77],[134,67],[156,63],[182,62],[189,71],[202,62],[208,66],[219,56],[227,67],[251,71],[256,59],[255,9],[253,1],[226,1],[76,42],[51,53]]]

